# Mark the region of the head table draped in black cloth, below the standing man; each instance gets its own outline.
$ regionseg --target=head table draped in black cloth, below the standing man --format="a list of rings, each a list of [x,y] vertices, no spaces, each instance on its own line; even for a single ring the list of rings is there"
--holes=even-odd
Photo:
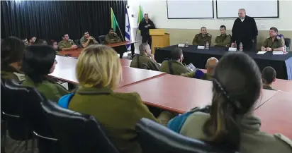
[[[158,48],[155,50],[155,60],[162,63],[164,59],[171,59],[171,51],[177,45]],[[205,68],[206,61],[210,57],[220,59],[228,49],[225,47],[210,47],[210,49],[198,49],[197,45],[190,45],[189,47],[180,47],[184,52],[184,63],[193,63],[196,68]],[[285,55],[273,55],[271,51],[265,54],[257,54],[257,51],[245,51],[251,56],[259,66],[260,71],[266,66],[275,68],[277,78],[292,80],[292,52]]]

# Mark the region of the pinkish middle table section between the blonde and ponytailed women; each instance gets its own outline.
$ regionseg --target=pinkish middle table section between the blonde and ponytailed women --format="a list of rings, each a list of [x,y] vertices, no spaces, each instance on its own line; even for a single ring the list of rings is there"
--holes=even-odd
[[[119,88],[116,92],[137,92],[147,105],[184,113],[196,106],[211,104],[212,87],[210,81],[167,74]],[[259,99],[256,107],[264,104],[276,92],[263,90],[262,98]]]

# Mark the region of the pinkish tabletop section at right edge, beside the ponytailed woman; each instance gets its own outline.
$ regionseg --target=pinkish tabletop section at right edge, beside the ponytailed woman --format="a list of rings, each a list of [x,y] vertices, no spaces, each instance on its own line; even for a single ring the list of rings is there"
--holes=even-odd
[[[277,92],[259,109],[255,116],[262,121],[261,130],[267,133],[282,133],[292,139],[292,94]]]

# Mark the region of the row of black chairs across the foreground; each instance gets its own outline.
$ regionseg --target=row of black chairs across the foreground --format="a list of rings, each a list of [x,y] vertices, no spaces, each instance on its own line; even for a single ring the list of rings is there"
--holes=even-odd
[[[26,148],[28,140],[34,142],[36,138],[40,153],[119,152],[94,116],[62,109],[34,88],[3,78],[1,94],[1,120],[5,122],[5,129],[13,140],[26,141]],[[174,133],[147,118],[137,123],[136,131],[137,140],[146,153],[230,152]]]

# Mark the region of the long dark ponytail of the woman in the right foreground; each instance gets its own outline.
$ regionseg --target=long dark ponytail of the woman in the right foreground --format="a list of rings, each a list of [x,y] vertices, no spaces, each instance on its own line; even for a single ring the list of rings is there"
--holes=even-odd
[[[203,126],[208,136],[205,141],[218,147],[238,151],[240,148],[240,129],[235,121],[235,108],[229,102],[228,94],[222,91],[217,80],[213,80],[213,99],[210,118]],[[225,94],[226,95],[225,95]]]

